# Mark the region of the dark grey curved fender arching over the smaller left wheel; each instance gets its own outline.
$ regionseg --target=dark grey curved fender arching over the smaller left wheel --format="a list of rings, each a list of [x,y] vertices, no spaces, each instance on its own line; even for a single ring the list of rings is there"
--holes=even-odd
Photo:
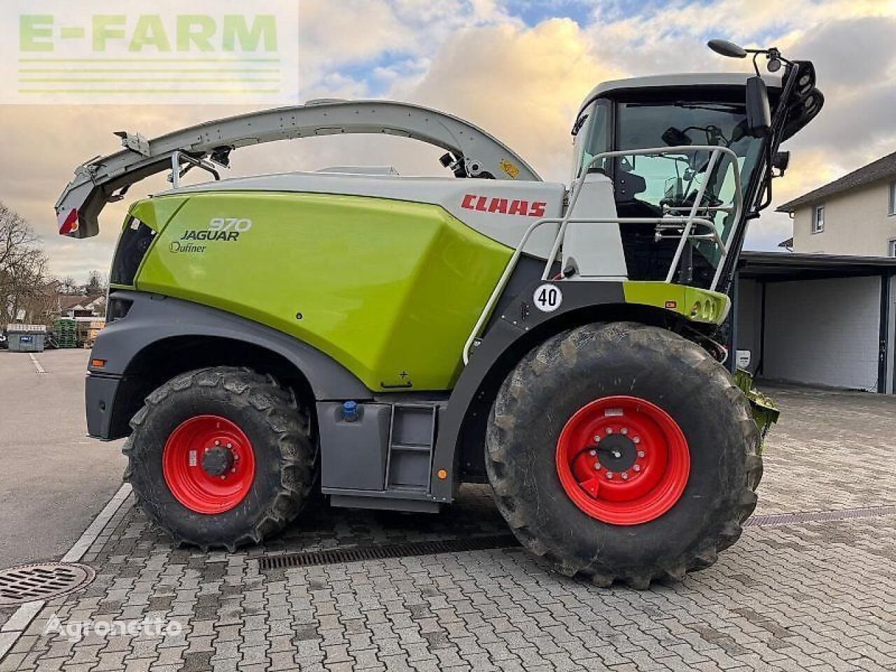
[[[252,343],[281,355],[308,379],[318,401],[370,399],[355,375],[318,349],[263,324],[215,308],[145,292],[116,290],[110,297],[132,301],[123,319],[99,332],[93,358],[105,359],[105,375],[126,375],[142,349],[177,336],[212,336]]]

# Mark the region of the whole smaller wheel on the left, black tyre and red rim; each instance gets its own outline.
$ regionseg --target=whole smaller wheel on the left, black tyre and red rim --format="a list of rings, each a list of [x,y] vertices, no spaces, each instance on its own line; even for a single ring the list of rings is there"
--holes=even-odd
[[[177,375],[147,397],[131,426],[125,481],[178,543],[257,544],[296,518],[314,483],[307,414],[292,392],[246,368]],[[201,471],[203,451],[219,443],[223,457],[211,463],[210,477]]]

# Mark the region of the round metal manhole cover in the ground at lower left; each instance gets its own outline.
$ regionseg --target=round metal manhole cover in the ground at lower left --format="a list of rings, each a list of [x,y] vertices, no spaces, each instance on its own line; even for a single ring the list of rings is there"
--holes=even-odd
[[[22,564],[0,570],[0,607],[65,595],[93,581],[86,564]]]

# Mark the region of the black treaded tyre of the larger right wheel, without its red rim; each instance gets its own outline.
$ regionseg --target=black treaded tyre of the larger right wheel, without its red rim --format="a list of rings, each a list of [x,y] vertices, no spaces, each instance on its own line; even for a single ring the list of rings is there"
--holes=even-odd
[[[584,513],[564,492],[556,444],[590,401],[632,395],[664,409],[691,470],[668,512],[636,525]],[[557,572],[646,589],[715,563],[754,511],[760,437],[745,395],[709,353],[640,323],[587,324],[546,340],[507,376],[491,411],[486,468],[513,533]]]

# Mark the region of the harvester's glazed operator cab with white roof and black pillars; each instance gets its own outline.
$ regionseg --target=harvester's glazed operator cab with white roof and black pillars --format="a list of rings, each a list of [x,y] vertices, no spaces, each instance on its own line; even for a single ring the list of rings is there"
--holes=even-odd
[[[756,76],[642,77],[590,92],[573,125],[573,181],[583,173],[611,181],[629,279],[706,289],[719,283],[719,264],[728,253],[737,257],[745,222],[771,197],[773,148],[823,103],[812,64],[792,66],[783,81],[758,76],[757,67]],[[657,151],[644,152],[649,149]],[[616,153],[596,159],[607,152]],[[759,205],[762,194],[766,202]],[[680,268],[670,271],[689,216],[705,223],[694,227],[677,253]],[[669,223],[654,224],[657,218]]]

